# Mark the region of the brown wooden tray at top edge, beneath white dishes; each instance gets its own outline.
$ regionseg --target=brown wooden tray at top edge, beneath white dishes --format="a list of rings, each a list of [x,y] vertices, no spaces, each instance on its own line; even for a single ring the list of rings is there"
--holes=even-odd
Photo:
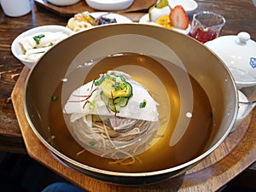
[[[106,0],[108,1],[108,0]],[[53,12],[55,12],[58,15],[71,17],[75,14],[78,14],[80,12],[88,11],[88,12],[96,12],[99,10],[90,8],[84,0],[79,1],[79,3],[70,5],[70,6],[55,6],[51,3],[48,3],[47,0],[34,0],[34,3],[40,7],[43,7],[45,9],[49,9]],[[116,13],[131,13],[143,10],[148,10],[152,5],[156,3],[156,0],[135,0],[134,3],[132,3],[131,7],[125,10],[117,11]]]

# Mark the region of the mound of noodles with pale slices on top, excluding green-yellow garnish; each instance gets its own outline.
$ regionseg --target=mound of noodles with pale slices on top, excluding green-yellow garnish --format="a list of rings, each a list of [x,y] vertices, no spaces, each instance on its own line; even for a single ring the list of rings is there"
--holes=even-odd
[[[119,112],[113,113],[109,109],[106,110],[108,106],[101,104],[102,97],[99,96],[102,90],[94,87],[94,83],[85,84],[83,88],[75,90],[64,112],[67,113],[66,122],[69,131],[84,149],[90,153],[116,160],[113,162],[129,165],[137,160],[135,157],[137,154],[142,154],[151,147],[158,131],[158,113],[157,103],[148,94],[148,90],[127,78],[129,76],[126,74],[120,74],[129,81],[133,93]],[[81,90],[87,92],[81,92]],[[80,101],[87,102],[86,98],[81,100],[83,96],[90,96],[90,101],[93,98],[93,109],[90,105],[79,103]],[[147,101],[147,105],[143,108],[134,107],[139,106],[142,101]],[[81,106],[83,106],[82,109]],[[132,113],[129,111],[131,109],[133,109]]]

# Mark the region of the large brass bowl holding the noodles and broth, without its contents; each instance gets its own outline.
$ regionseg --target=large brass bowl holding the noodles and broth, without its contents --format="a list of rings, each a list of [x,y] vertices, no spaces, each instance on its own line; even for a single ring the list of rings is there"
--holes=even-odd
[[[212,134],[205,150],[193,160],[154,172],[113,172],[73,160],[49,142],[50,97],[61,79],[85,61],[125,52],[182,63],[207,93],[212,106]],[[119,184],[154,183],[187,171],[224,142],[236,121],[238,110],[236,84],[216,55],[183,34],[138,24],[99,26],[57,44],[32,69],[26,81],[25,99],[26,117],[32,130],[56,157],[90,177]]]

